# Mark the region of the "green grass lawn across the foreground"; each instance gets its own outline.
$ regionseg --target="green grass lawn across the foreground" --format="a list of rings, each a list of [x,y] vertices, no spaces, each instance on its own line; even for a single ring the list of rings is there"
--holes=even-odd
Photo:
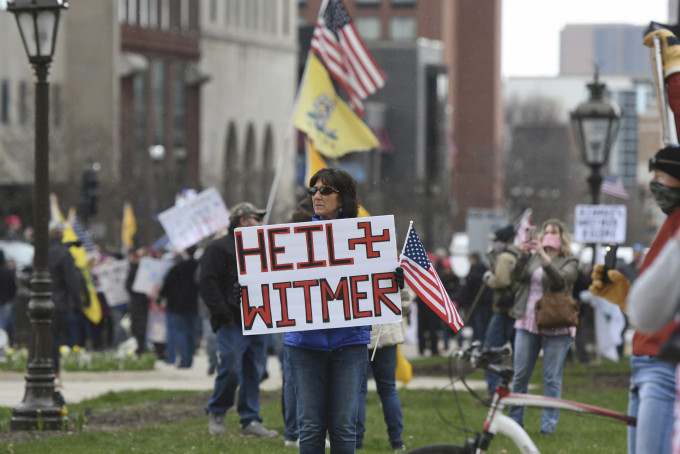
[[[428,361],[431,361],[428,359]],[[446,358],[439,361],[446,362]],[[418,361],[414,361],[418,370]],[[540,385],[541,363],[536,366],[532,382],[535,392],[542,392]],[[606,407],[619,412],[626,411],[626,381],[629,376],[628,361],[604,362],[600,366],[568,365],[564,374],[564,398]],[[482,379],[476,372],[470,378]],[[142,391],[109,393],[105,396],[69,405],[72,417],[82,414],[86,407],[95,411],[121,406],[143,405],[144,402],[159,400],[186,392]],[[191,394],[191,393],[189,393]],[[486,407],[478,404],[468,393],[454,394],[451,390],[442,392],[430,390],[400,389],[404,414],[404,442],[408,448],[431,443],[462,444],[467,436],[462,430],[478,430],[486,414]],[[203,399],[203,396],[201,396]],[[462,409],[462,416],[458,409]],[[11,410],[0,409],[0,422],[7,427]],[[267,427],[283,431],[280,395],[263,393],[262,416]],[[539,434],[540,410],[527,410],[525,427],[545,453],[621,453],[626,451],[626,427],[623,423],[596,416],[586,416],[563,411],[557,432],[545,436]],[[293,448],[284,448],[283,437],[259,440],[242,438],[238,435],[238,415],[230,411],[227,415],[228,433],[224,437],[212,437],[207,432],[207,418],[193,417],[182,422],[158,423],[139,429],[128,429],[115,433],[75,433],[59,437],[47,437],[24,443],[0,445],[0,453],[291,453]],[[369,392],[367,403],[367,433],[364,441],[365,454],[390,452],[380,400],[375,392]],[[6,429],[5,429],[6,430]],[[512,443],[497,437],[489,452],[518,452]]]

